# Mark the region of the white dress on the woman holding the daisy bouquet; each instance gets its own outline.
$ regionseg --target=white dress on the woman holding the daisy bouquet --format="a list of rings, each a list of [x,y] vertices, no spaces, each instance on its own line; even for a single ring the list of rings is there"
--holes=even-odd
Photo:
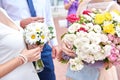
[[[0,12],[3,9],[0,8]],[[6,13],[4,13],[6,15]],[[6,15],[7,16],[7,15]],[[2,17],[2,16],[1,16]],[[10,18],[7,18],[10,19]],[[12,21],[13,22],[13,21]],[[0,64],[3,64],[14,57],[26,47],[23,39],[23,29],[20,31],[0,22]],[[32,63],[23,64],[0,80],[40,80]]]

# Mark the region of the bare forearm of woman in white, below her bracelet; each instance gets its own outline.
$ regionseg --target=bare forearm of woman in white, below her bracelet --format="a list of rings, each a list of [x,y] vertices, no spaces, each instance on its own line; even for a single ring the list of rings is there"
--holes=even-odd
[[[0,78],[22,65],[24,62],[21,57],[16,57],[6,63],[0,64]]]

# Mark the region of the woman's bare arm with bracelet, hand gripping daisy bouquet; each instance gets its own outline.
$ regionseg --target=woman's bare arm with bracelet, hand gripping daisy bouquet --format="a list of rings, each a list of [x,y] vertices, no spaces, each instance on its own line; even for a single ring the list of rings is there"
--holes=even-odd
[[[17,67],[27,62],[33,62],[39,59],[42,49],[40,47],[34,49],[24,49],[18,57],[15,57],[3,64],[0,64],[0,78],[12,72]]]

